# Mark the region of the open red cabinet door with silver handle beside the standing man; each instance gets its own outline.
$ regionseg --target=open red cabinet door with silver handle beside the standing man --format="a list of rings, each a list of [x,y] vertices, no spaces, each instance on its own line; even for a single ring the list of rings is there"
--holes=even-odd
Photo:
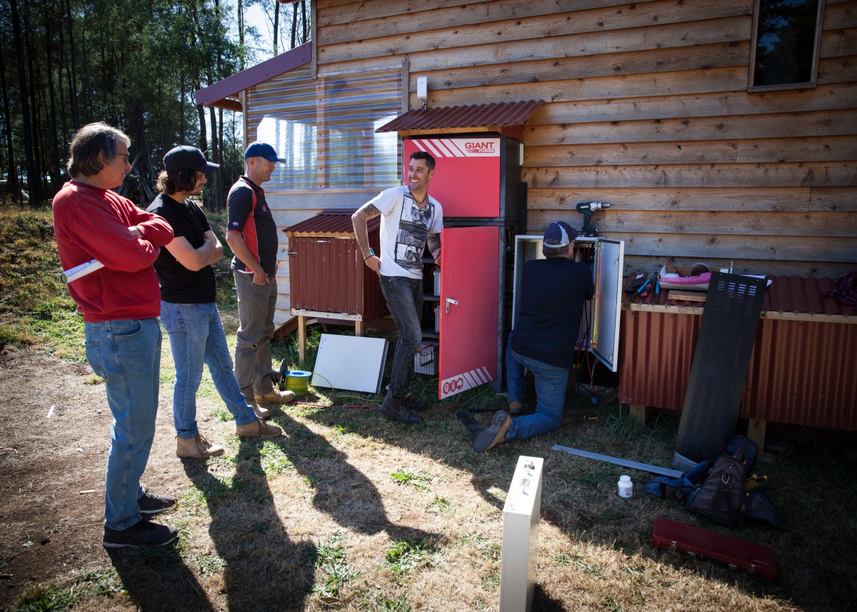
[[[497,378],[500,228],[440,232],[438,398]]]

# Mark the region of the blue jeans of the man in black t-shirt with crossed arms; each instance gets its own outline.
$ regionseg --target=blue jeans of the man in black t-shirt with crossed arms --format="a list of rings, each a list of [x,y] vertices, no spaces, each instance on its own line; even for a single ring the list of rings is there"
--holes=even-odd
[[[180,438],[195,438],[196,392],[202,381],[202,366],[211,372],[214,388],[237,425],[256,420],[232,372],[232,357],[215,303],[176,304],[161,302],[161,323],[170,337],[176,383],[172,387],[172,418]]]

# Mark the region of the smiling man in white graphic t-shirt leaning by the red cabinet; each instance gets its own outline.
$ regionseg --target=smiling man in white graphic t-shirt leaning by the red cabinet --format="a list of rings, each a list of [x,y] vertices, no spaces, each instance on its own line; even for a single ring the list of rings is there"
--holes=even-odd
[[[393,352],[393,369],[381,414],[401,423],[419,423],[423,401],[411,398],[411,369],[414,354],[420,348],[423,328],[423,249],[440,265],[440,230],[443,210],[440,202],[428,195],[428,183],[434,176],[434,158],[424,152],[411,154],[408,181],[401,187],[385,189],[351,215],[357,244],[363,261],[381,279],[381,291],[387,308],[396,321],[399,341]],[[369,247],[366,224],[381,216],[381,255]]]

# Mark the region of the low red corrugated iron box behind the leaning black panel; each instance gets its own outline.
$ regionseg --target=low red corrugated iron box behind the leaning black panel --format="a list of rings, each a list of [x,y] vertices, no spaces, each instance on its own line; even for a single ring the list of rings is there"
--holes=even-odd
[[[833,280],[770,277],[740,416],[857,430],[857,312]],[[704,304],[667,291],[621,314],[620,400],[681,410]]]

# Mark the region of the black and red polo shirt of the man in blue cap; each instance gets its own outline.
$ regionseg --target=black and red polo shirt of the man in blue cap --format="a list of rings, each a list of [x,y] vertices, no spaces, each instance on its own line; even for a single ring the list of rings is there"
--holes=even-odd
[[[254,195],[255,193],[255,204]],[[271,209],[265,201],[265,189],[253,183],[248,177],[241,177],[232,185],[226,198],[229,219],[226,229],[240,231],[250,253],[262,265],[268,274],[277,273],[277,249],[279,237],[277,223],[273,220]],[[232,269],[249,272],[247,264],[236,257],[232,258]]]

